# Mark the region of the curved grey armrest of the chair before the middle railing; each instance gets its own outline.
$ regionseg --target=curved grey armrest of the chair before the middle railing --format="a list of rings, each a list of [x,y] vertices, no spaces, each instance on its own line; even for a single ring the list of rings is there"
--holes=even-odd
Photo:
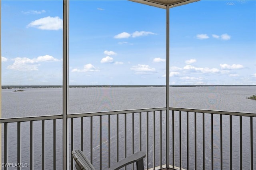
[[[141,165],[142,163],[142,167],[143,167],[143,158],[145,158],[146,154],[144,152],[136,152],[135,154],[128,156],[127,158],[124,158],[123,160],[120,160],[119,162],[117,162],[116,164],[114,164],[113,166],[111,166],[110,168],[108,168],[108,170],[119,170],[120,168],[128,165],[128,164],[132,164],[134,162],[137,162],[137,167],[138,164]],[[138,170],[138,168],[137,168]]]

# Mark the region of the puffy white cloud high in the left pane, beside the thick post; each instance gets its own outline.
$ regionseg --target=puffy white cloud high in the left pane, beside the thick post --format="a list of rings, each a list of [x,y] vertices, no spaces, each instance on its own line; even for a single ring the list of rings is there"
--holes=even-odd
[[[40,30],[60,30],[62,29],[62,23],[62,19],[60,19],[58,16],[47,16],[45,18],[40,18],[30,22],[27,27],[35,27]]]

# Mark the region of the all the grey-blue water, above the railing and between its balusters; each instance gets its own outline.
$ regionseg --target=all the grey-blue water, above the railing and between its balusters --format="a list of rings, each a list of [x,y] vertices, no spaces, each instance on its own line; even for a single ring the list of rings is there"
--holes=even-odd
[[[42,115],[56,115],[62,113],[62,89],[61,88],[28,88],[25,89],[24,92],[13,92],[15,89],[3,89],[2,90],[2,118],[7,117],[24,117],[24,116],[42,116]],[[84,113],[84,112],[97,112],[97,111],[108,111],[108,110],[127,110],[127,109],[138,109],[138,108],[155,108],[155,107],[164,107],[166,103],[165,99],[166,89],[163,87],[147,87],[147,88],[70,88],[69,90],[69,113]],[[210,87],[170,87],[170,106],[171,107],[180,107],[180,108],[197,108],[197,109],[208,109],[208,110],[225,110],[225,111],[235,111],[235,112],[253,112],[256,113],[256,101],[247,99],[246,97],[252,96],[256,94],[255,86],[210,86]],[[156,112],[156,124],[159,124],[159,113]],[[150,115],[152,118],[152,114]],[[178,129],[178,113],[175,113],[175,124],[174,127]],[[103,156],[107,156],[107,145],[108,145],[108,129],[105,128],[108,125],[107,116],[103,116],[102,119],[102,141],[104,144],[102,145]],[[142,119],[146,118],[146,114],[142,114]],[[120,115],[120,122],[124,120],[124,116]],[[131,127],[131,115],[127,116],[127,127]],[[138,120],[138,114],[135,114],[135,121]],[[152,120],[152,119],[150,119]],[[194,133],[194,115],[190,115],[190,150],[193,155],[193,133]],[[197,115],[197,123],[198,123],[198,134],[201,133],[202,129],[202,115]],[[206,122],[210,121],[210,115],[206,115]],[[228,117],[223,116],[223,128],[224,135],[229,136],[228,128],[229,122],[227,121]],[[255,119],[254,119],[255,120]],[[80,124],[80,119],[74,119],[74,125]],[[94,161],[98,160],[99,153],[99,142],[98,141],[98,128],[96,128],[99,124],[99,119],[94,118]],[[248,126],[248,119],[243,118],[243,129]],[[172,122],[172,118],[170,118],[170,122]],[[219,116],[214,115],[214,169],[219,169]],[[255,122],[255,121],[254,121]],[[51,169],[52,157],[52,120],[47,120],[46,122],[46,169]],[[234,169],[239,169],[239,162],[235,160],[238,158],[239,160],[239,141],[236,141],[234,137],[239,136],[239,118],[233,118],[233,155],[235,156],[233,160]],[[89,118],[84,118],[84,136],[88,136],[88,125],[90,124]],[[149,127],[152,128],[152,122],[149,123]],[[186,160],[186,117],[182,116],[182,159]],[[172,125],[172,124],[170,124]],[[9,124],[9,162],[16,163],[16,144],[17,144],[17,132],[16,132],[17,124],[11,123]],[[41,164],[41,150],[37,148],[41,148],[41,122],[34,122],[34,167],[42,166]],[[146,134],[146,124],[143,122],[142,134]],[[165,126],[164,114],[162,118],[162,127]],[[210,145],[210,133],[209,124],[206,124],[206,146]],[[3,127],[3,126],[2,126]],[[115,148],[116,146],[116,116],[111,116],[111,161],[115,162]],[[256,125],[254,123],[254,129],[256,129]],[[57,120],[57,164],[62,164],[62,121]],[[80,125],[74,126],[75,130],[80,132]],[[129,129],[129,128],[128,128]],[[124,148],[124,136],[122,136],[124,128],[123,125],[120,125],[120,148]],[[28,163],[29,165],[29,123],[22,122],[22,163]],[[156,134],[159,134],[159,126],[156,126]],[[171,130],[170,130],[170,133]],[[179,131],[175,131],[175,136],[178,136]],[[131,138],[131,132],[128,131],[128,138]],[[130,137],[129,137],[130,136]],[[152,136],[152,132],[150,132],[150,136]],[[165,139],[165,134],[162,131],[163,140]],[[172,134],[170,134],[172,136]],[[244,167],[248,167],[250,164],[248,157],[248,142],[246,143],[246,137],[248,136],[248,132],[243,131],[243,165]],[[254,130],[254,136],[256,136]],[[74,139],[78,139],[80,141],[80,134],[75,133]],[[135,123],[135,139],[138,139],[138,122]],[[255,139],[256,137],[254,137]],[[3,138],[2,138],[3,139]],[[142,140],[145,140],[145,137],[142,137]],[[171,142],[172,139],[170,139]],[[198,141],[202,141],[202,136],[197,136]],[[175,138],[175,153],[179,155],[179,139]],[[156,142],[159,143],[158,138]],[[150,140],[150,160],[152,160],[152,141]],[[2,141],[3,144],[3,141]],[[228,146],[229,140],[224,138],[224,148],[229,148]],[[137,144],[136,144],[137,145]],[[84,146],[85,150],[89,150],[88,146],[90,146],[90,141],[87,138],[84,138]],[[164,142],[163,142],[164,146]],[[128,142],[128,148],[131,147],[131,142]],[[138,148],[138,146],[136,146]],[[79,142],[77,140],[74,141],[74,148],[80,148]],[[105,149],[106,148],[106,149]],[[142,146],[142,149],[145,149],[146,145]],[[198,168],[202,168],[202,144],[199,142],[197,146],[198,150]],[[254,143],[254,148],[256,148],[256,144]],[[162,151],[164,153],[164,149]],[[3,150],[3,145],[2,145]],[[159,157],[159,146],[156,145],[156,156]],[[206,148],[206,168],[210,168],[210,159],[211,159],[211,148]],[[135,150],[136,151],[136,150]],[[123,156],[123,151],[120,151],[120,156]],[[256,151],[254,150],[256,154]],[[128,150],[127,155],[130,154],[130,150]],[[170,154],[172,154],[172,145],[170,145]],[[229,150],[224,150],[224,162],[229,162]],[[90,153],[88,153],[90,156]],[[3,157],[2,157],[3,158]],[[165,156],[163,154],[163,159]],[[171,159],[171,157],[170,157]],[[193,159],[190,159],[190,168],[193,169]],[[254,155],[254,160],[256,160],[256,155]],[[103,157],[103,167],[107,166],[108,159],[107,157]],[[159,163],[159,160],[156,160]],[[172,164],[172,160],[170,160],[170,164]],[[179,165],[179,158],[175,157],[175,164]],[[182,162],[183,167],[186,167],[186,161]],[[149,163],[152,166],[152,162]],[[96,165],[97,167],[98,165]],[[256,166],[256,165],[255,165]],[[254,167],[255,167],[254,166]],[[59,166],[61,167],[61,166]],[[224,169],[228,168],[224,166]],[[23,168],[26,169],[26,168]],[[61,169],[61,168],[60,168]]]

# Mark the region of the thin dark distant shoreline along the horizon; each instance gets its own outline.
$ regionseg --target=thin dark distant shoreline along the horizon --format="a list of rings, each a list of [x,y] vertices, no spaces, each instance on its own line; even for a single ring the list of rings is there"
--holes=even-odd
[[[170,87],[229,87],[229,86],[255,86],[256,85],[170,85]],[[110,88],[110,87],[165,87],[165,85],[70,85],[69,88]],[[59,85],[27,85],[27,86],[19,86],[19,85],[8,85],[2,86],[2,89],[14,89],[14,88],[62,88]]]

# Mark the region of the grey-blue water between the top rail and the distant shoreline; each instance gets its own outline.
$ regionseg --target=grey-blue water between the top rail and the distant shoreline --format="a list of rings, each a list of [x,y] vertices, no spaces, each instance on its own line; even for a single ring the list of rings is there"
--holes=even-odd
[[[2,90],[2,118],[62,113],[61,88]],[[69,113],[165,107],[166,89],[70,88]],[[170,87],[170,106],[256,113],[255,86]]]

